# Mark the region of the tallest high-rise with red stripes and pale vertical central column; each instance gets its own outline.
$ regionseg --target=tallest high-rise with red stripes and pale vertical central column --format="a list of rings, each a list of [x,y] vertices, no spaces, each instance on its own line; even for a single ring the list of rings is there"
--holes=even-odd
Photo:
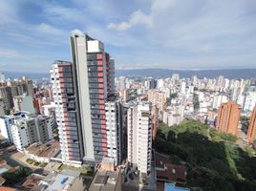
[[[102,42],[74,31],[73,63],[53,64],[53,97],[64,163],[108,157],[105,104],[115,94],[114,60]]]

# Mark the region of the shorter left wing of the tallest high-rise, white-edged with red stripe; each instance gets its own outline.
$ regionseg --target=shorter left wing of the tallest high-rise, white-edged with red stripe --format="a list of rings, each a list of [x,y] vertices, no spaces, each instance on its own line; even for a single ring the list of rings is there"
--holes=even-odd
[[[80,164],[72,63],[55,61],[51,78],[62,160],[68,164]]]

